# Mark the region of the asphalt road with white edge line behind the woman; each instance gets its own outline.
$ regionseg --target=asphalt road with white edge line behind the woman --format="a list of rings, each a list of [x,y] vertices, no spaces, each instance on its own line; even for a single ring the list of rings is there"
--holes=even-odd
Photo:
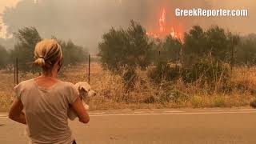
[[[78,144],[256,143],[256,110],[107,110],[70,122]],[[0,143],[27,143],[25,126],[0,114]]]

